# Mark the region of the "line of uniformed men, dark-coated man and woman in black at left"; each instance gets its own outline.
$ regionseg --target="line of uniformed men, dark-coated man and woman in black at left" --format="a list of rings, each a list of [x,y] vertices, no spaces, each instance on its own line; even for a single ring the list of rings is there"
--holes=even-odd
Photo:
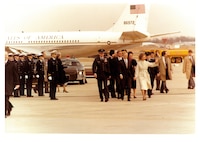
[[[57,100],[58,85],[63,86],[63,92],[67,92],[68,79],[61,62],[61,54],[56,51],[51,52],[49,59],[45,53],[25,55],[5,52],[5,62],[5,116],[10,115],[13,107],[9,102],[10,96],[33,97],[33,89],[38,96],[49,93],[50,100]]]

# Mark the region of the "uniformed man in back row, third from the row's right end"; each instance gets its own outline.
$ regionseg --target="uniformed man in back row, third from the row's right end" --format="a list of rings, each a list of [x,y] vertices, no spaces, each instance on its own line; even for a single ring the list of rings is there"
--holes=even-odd
[[[19,81],[20,81],[20,96],[24,95],[25,86],[25,54],[19,54]]]

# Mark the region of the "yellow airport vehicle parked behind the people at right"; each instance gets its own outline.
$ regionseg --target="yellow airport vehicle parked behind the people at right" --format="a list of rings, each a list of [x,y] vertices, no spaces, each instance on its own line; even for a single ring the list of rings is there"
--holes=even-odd
[[[171,63],[182,63],[183,59],[185,56],[188,55],[188,50],[187,49],[166,49],[166,50],[145,50],[144,52],[154,52],[158,53],[161,55],[162,51],[167,51],[168,57],[171,60]]]

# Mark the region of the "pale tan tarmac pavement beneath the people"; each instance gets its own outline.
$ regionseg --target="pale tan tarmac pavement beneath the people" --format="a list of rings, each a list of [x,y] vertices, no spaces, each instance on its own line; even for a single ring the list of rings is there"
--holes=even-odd
[[[154,90],[152,98],[110,98],[100,102],[97,82],[70,84],[59,100],[45,96],[11,98],[11,116],[5,118],[7,134],[194,134],[195,90],[187,89],[182,64],[174,66],[168,94]],[[62,91],[62,88],[60,88]]]

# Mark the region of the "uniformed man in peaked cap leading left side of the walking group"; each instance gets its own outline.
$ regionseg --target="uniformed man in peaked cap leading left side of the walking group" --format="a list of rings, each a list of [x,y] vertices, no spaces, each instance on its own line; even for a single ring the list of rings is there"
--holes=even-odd
[[[107,102],[108,97],[109,97],[107,81],[110,76],[110,65],[109,65],[107,57],[104,56],[104,52],[105,52],[104,49],[99,49],[98,50],[99,56],[95,58],[92,64],[92,71],[93,71],[94,77],[97,79],[99,96],[100,96],[101,102],[103,102],[104,98],[105,98],[105,102]],[[104,97],[103,97],[103,94],[104,94]]]

